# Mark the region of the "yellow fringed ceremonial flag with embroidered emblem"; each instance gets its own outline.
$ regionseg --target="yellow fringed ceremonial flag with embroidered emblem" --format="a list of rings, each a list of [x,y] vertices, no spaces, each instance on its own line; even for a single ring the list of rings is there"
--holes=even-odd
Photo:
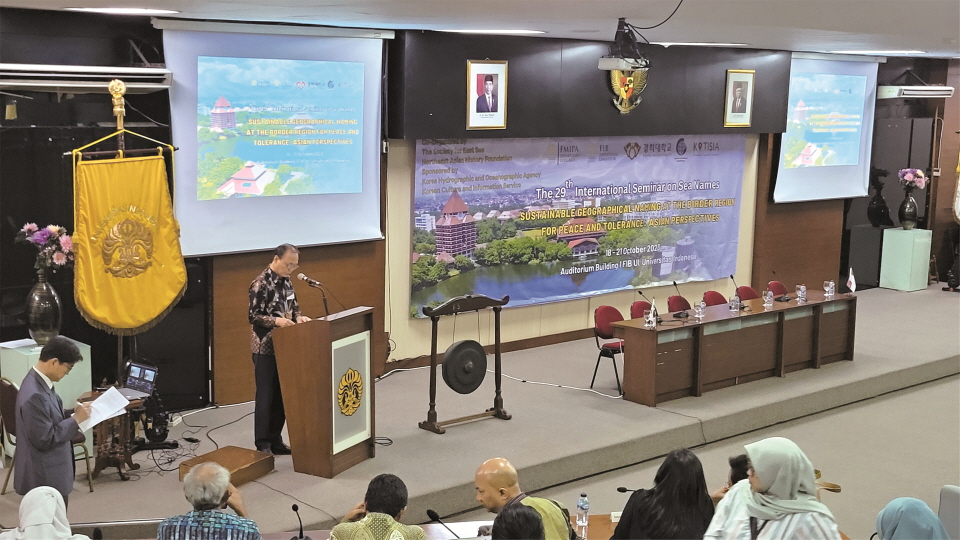
[[[149,330],[187,284],[163,156],[79,161],[73,196],[77,308],[112,334]]]

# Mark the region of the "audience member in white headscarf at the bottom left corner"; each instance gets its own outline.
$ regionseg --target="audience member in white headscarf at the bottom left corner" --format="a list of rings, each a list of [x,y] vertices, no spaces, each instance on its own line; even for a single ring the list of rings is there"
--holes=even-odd
[[[48,486],[35,487],[20,501],[20,526],[0,534],[2,540],[90,540],[72,534],[63,495]]]

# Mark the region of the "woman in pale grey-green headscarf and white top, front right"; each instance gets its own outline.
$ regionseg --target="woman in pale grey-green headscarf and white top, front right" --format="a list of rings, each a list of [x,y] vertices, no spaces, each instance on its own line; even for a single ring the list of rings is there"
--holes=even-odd
[[[839,540],[833,514],[817,500],[813,465],[789,439],[748,444],[749,475],[717,505],[705,539]]]

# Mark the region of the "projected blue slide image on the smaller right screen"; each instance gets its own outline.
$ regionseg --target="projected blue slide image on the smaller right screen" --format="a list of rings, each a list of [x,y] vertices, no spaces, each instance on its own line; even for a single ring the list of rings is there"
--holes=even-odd
[[[792,73],[784,169],[857,165],[867,77]]]

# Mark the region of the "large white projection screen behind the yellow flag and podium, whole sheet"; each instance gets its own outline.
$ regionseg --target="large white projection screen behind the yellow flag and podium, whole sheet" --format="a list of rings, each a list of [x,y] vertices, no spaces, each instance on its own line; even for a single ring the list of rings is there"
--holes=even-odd
[[[164,30],[184,256],[382,238],[382,42]]]

